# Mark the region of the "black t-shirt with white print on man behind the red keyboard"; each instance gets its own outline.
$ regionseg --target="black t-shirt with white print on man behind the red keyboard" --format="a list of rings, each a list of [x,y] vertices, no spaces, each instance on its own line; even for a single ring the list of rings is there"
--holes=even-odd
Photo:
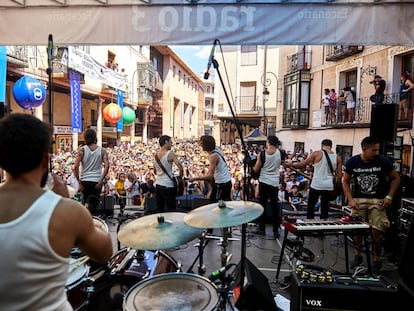
[[[389,190],[388,174],[393,169],[392,162],[381,154],[369,163],[363,162],[361,155],[351,157],[345,171],[352,176],[352,196],[383,199]]]

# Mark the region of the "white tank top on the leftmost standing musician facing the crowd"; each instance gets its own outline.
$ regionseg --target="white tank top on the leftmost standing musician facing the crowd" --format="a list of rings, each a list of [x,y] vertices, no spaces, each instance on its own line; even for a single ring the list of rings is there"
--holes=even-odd
[[[82,158],[82,181],[98,182],[102,176],[102,148],[98,146],[95,150],[83,147]]]

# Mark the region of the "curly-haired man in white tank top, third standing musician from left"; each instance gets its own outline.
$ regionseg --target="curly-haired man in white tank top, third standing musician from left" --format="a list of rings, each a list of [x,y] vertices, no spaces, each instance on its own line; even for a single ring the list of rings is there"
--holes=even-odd
[[[189,181],[207,180],[212,184],[210,203],[219,200],[231,201],[231,176],[221,149],[216,147],[216,141],[210,135],[201,136],[199,144],[208,153],[208,172],[206,175],[191,177]],[[211,233],[212,230],[209,229],[208,232]],[[231,237],[230,229],[225,228],[223,234]]]

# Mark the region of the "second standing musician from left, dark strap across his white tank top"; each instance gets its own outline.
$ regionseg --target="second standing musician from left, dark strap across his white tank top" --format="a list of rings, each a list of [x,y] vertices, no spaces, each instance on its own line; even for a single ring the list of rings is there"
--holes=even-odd
[[[177,166],[179,175],[183,177],[184,168],[178,160],[177,155],[171,151],[172,140],[168,135],[159,139],[160,150],[155,154],[154,170],[157,176],[155,186],[155,200],[157,209],[153,212],[177,210],[177,188],[173,182],[173,163]]]

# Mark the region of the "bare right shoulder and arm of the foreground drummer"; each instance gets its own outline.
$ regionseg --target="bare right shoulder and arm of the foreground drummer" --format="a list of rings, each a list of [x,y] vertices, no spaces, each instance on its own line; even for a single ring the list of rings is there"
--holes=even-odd
[[[49,226],[53,249],[69,257],[74,245],[97,263],[105,263],[112,255],[109,234],[95,226],[90,212],[73,199],[62,198]]]

